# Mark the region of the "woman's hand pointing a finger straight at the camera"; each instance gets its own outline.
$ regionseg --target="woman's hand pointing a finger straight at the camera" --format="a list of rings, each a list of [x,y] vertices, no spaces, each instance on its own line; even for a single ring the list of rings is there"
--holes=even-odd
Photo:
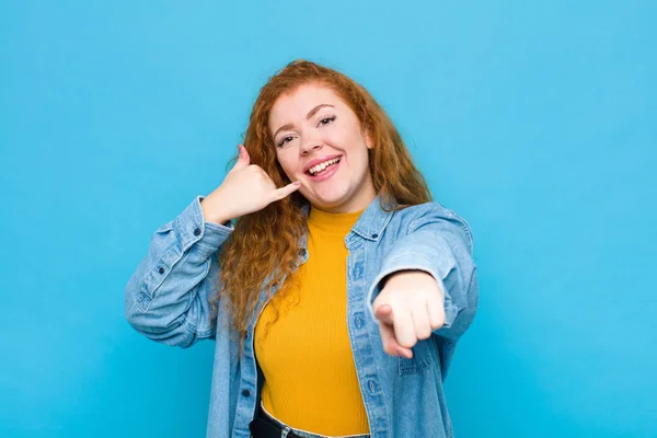
[[[443,297],[438,281],[424,270],[391,274],[372,308],[379,320],[383,350],[413,357],[418,339],[426,339],[445,324]]]

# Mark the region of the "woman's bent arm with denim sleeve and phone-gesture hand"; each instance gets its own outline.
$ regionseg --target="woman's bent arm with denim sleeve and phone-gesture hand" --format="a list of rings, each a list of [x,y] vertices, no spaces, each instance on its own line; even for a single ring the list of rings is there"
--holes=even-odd
[[[153,341],[189,347],[216,334],[209,302],[218,286],[216,253],[232,228],[211,220],[262,210],[299,188],[299,182],[277,188],[262,168],[250,164],[244,146],[239,149],[238,161],[219,187],[207,198],[197,196],[153,233],[148,255],[126,286],[126,318]]]

